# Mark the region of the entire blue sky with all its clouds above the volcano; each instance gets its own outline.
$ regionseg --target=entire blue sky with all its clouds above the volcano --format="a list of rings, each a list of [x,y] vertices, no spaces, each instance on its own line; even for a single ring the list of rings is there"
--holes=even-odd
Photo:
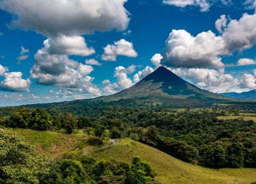
[[[214,93],[256,89],[255,7],[0,0],[0,106],[116,93],[158,66]]]

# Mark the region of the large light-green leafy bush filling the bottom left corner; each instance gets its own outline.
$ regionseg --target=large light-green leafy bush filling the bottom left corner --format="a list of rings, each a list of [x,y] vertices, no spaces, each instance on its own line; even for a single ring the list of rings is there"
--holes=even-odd
[[[0,128],[0,183],[43,183],[48,160],[9,130]]]

